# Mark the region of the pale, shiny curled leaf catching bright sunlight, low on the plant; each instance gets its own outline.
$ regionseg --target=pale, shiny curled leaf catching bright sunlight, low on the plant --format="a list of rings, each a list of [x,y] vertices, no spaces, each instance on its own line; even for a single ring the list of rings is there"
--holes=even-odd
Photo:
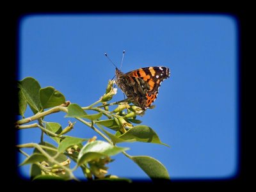
[[[111,145],[105,141],[92,141],[90,143],[86,143],[84,147],[81,149],[78,155],[78,164],[83,164],[85,161],[91,161],[91,154],[90,158],[88,158],[88,153],[93,153],[93,157],[95,159],[102,157],[102,156],[114,156],[124,150],[128,150],[129,148],[124,147],[116,147]],[[89,160],[88,160],[89,159]]]

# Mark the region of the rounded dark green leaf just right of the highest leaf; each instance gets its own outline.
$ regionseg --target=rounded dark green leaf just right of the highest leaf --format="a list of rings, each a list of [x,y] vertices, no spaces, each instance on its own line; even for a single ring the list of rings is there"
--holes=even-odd
[[[65,102],[64,95],[52,86],[40,89],[40,100],[43,109],[59,106]]]

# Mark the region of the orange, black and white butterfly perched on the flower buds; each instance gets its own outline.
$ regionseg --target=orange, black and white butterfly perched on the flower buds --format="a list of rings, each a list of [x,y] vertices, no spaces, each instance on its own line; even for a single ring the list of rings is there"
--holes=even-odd
[[[126,74],[116,68],[116,84],[128,99],[144,110],[156,100],[160,84],[168,77],[170,70],[163,66],[138,68]]]

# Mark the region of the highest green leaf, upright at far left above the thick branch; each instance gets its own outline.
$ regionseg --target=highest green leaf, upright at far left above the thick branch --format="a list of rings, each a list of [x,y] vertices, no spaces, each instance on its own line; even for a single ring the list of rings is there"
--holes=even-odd
[[[42,110],[42,105],[40,102],[40,84],[33,77],[26,77],[22,81],[18,81],[18,87],[24,95],[26,102],[28,102],[32,111],[38,112]]]

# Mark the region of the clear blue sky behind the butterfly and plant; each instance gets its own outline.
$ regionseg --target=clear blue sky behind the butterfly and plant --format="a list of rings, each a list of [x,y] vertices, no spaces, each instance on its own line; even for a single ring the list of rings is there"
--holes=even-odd
[[[239,165],[237,20],[230,15],[27,15],[19,26],[19,79],[34,77],[42,87],[54,86],[67,100],[88,106],[115,74],[104,52],[120,66],[123,50],[123,72],[160,65],[171,70],[159,89],[156,108],[139,118],[170,148],[151,143],[119,146],[130,147],[132,156],[158,159],[173,180],[234,176]],[[122,99],[119,89],[113,101]],[[74,122],[64,115],[45,120],[62,127],[68,120]],[[77,122],[69,135],[97,134]],[[19,143],[39,141],[38,129],[19,131]],[[148,179],[122,154],[113,159],[109,173]],[[20,173],[28,177],[29,165],[20,167]],[[76,175],[82,177],[80,169]]]

